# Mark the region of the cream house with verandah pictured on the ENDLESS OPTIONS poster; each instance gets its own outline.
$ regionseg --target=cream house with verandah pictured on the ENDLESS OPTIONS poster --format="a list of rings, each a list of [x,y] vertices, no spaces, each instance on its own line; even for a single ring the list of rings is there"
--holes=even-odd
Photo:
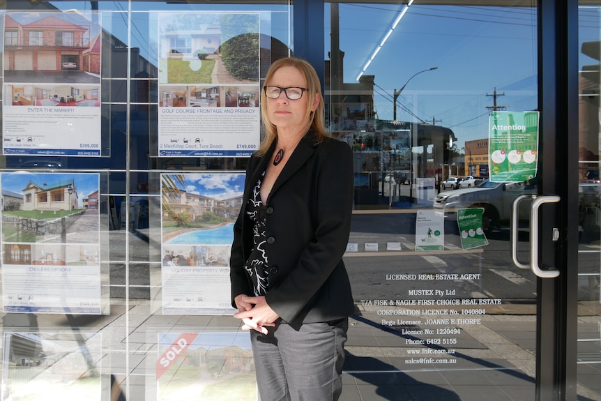
[[[23,190],[23,210],[58,211],[77,208],[75,181],[38,185],[29,181]]]

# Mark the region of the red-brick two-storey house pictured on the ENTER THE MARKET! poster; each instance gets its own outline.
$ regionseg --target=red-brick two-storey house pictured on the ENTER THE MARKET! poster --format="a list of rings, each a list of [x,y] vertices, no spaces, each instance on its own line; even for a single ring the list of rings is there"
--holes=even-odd
[[[54,15],[29,24],[20,24],[10,15],[5,18],[5,70],[82,70],[82,54],[90,45],[89,26]],[[100,69],[86,70],[100,72]]]

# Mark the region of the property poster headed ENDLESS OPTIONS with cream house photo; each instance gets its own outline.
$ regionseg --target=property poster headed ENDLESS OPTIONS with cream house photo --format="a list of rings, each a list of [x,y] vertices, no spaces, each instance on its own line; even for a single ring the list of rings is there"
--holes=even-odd
[[[100,314],[99,174],[1,173],[4,312]]]

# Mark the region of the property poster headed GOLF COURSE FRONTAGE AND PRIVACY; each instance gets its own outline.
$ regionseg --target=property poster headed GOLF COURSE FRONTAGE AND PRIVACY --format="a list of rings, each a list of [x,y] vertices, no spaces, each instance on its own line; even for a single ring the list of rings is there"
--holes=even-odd
[[[158,15],[158,156],[259,147],[259,13]]]

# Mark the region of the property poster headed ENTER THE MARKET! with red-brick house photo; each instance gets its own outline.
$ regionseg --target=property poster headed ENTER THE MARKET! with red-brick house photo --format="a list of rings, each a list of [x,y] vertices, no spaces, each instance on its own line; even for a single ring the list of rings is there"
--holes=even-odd
[[[102,156],[100,14],[15,12],[3,22],[3,154]]]

